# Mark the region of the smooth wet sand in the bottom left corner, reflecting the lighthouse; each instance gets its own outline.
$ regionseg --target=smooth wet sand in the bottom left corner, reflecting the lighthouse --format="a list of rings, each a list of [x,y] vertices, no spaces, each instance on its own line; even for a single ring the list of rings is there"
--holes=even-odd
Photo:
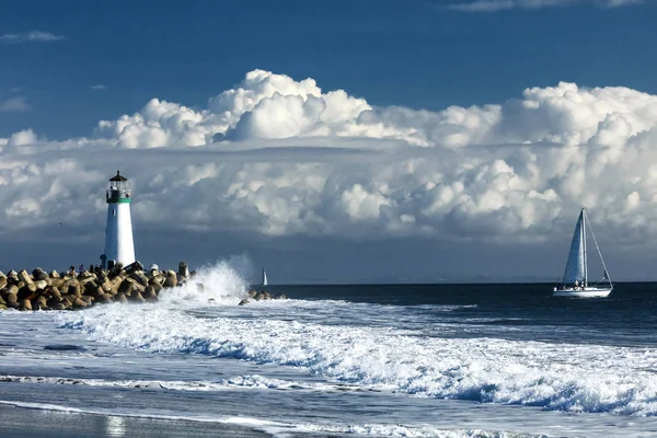
[[[0,405],[0,437],[265,438],[270,435],[219,423],[122,417]]]

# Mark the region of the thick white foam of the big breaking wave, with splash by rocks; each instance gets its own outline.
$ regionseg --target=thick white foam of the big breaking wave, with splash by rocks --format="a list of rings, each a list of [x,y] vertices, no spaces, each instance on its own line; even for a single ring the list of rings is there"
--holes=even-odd
[[[218,279],[206,283],[206,293],[234,297],[234,303],[239,280],[220,270],[214,275]],[[95,307],[61,318],[62,326],[82,330],[94,341],[298,367],[334,382],[417,396],[657,415],[654,349],[440,337],[448,331],[441,324],[422,330],[372,326],[372,312],[362,311],[368,304],[338,304],[338,323],[318,318],[320,309],[331,315],[334,306],[293,300],[249,309],[222,306],[214,316],[197,318],[172,298],[157,306]]]

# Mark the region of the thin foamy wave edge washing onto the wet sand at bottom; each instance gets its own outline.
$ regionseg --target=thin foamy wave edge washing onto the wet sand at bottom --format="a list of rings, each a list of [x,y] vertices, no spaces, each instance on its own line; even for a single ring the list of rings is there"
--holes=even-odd
[[[198,423],[217,423],[223,425],[234,425],[247,427],[253,430],[264,431],[274,437],[286,438],[299,435],[355,435],[355,436],[376,436],[376,437],[435,437],[435,438],[548,438],[548,435],[527,435],[514,434],[507,431],[493,431],[482,429],[442,429],[428,426],[407,426],[407,425],[389,425],[389,424],[364,424],[364,425],[320,425],[320,424],[292,424],[283,422],[270,422],[255,417],[242,416],[226,416],[226,417],[207,417],[207,416],[178,416],[178,415],[155,415],[155,414],[134,414],[134,413],[117,413],[111,410],[82,410],[57,404],[44,403],[24,403],[14,401],[0,400],[0,404],[39,411],[56,411],[71,414],[95,414],[107,415],[112,418],[112,426],[120,428],[120,420],[117,418],[149,418],[164,420],[185,420]]]

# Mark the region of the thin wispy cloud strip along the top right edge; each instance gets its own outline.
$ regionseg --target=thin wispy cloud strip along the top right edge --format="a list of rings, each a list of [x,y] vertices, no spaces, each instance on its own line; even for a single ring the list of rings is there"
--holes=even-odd
[[[644,0],[463,0],[449,5],[449,9],[463,12],[497,12],[509,9],[542,9],[593,4],[600,8],[620,8],[639,4]]]

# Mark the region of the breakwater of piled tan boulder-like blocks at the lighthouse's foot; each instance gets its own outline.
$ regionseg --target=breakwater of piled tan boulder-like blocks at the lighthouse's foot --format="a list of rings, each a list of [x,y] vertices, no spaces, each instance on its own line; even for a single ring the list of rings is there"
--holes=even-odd
[[[99,303],[111,302],[157,302],[160,291],[180,287],[192,281],[195,272],[189,273],[187,264],[181,262],[177,272],[160,270],[158,267],[145,269],[139,262],[113,269],[94,269],[82,273],[46,273],[41,268],[0,272],[0,310],[76,310]],[[205,285],[196,283],[199,293]],[[281,299],[285,295],[269,296],[266,291],[250,290],[250,300]]]

